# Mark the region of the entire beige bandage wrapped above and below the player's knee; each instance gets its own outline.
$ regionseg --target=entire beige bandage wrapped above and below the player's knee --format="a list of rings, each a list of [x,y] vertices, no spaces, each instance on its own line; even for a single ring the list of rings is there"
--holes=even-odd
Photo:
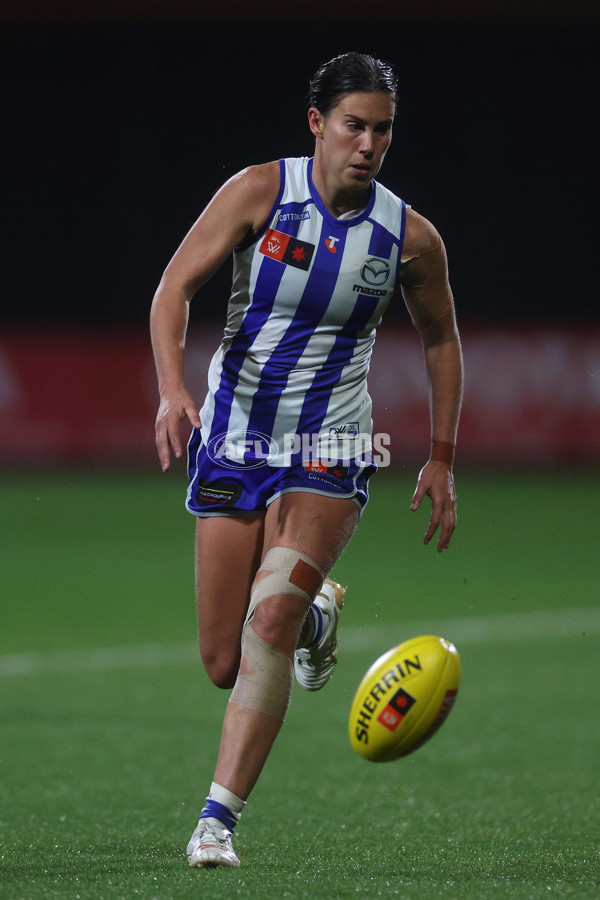
[[[293,666],[285,653],[263,640],[250,622],[256,607],[276,594],[296,594],[310,606],[323,582],[323,573],[310,557],[288,547],[272,547],[259,572],[268,572],[250,597],[242,632],[242,662],[229,698],[246,709],[285,720],[292,697]]]

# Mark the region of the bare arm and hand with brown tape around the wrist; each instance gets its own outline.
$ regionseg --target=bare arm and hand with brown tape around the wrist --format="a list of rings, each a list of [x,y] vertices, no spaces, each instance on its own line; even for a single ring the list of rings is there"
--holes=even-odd
[[[423,344],[429,381],[431,453],[421,469],[411,509],[431,499],[428,544],[440,529],[437,549],[450,544],[456,526],[454,448],[462,404],[463,364],[444,243],[433,225],[408,211],[400,274],[402,295]]]

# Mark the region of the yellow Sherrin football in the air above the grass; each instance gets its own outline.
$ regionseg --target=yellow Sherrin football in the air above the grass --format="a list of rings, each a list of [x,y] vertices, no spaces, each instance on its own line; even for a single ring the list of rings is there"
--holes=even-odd
[[[424,635],[392,647],[358,686],[348,731],[353,749],[372,762],[412,753],[452,709],[460,681],[454,644]]]

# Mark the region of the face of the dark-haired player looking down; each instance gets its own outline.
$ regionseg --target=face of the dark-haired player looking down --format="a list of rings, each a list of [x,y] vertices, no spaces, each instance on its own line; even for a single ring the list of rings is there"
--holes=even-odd
[[[327,116],[309,111],[316,155],[330,187],[364,189],[375,178],[392,140],[395,111],[384,93],[346,94]]]

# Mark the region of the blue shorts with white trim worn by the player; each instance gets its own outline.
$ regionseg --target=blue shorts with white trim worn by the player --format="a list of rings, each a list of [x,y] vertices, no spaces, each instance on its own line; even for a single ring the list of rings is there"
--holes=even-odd
[[[194,516],[238,516],[264,513],[273,500],[293,491],[354,500],[359,510],[369,499],[368,481],[377,471],[364,460],[307,463],[287,467],[224,467],[207,453],[199,429],[188,444],[188,492],[186,509]]]

